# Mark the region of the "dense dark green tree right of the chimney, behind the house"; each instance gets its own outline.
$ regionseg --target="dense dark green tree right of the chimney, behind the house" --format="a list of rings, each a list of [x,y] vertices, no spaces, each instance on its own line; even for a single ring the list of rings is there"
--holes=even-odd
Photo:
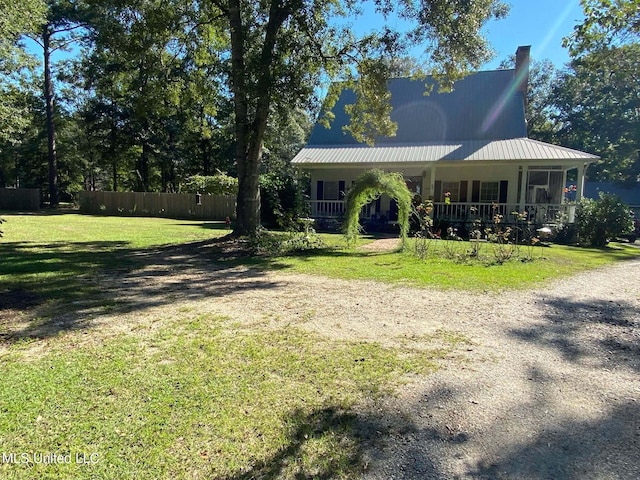
[[[553,91],[563,145],[597,153],[601,181],[640,180],[640,44],[607,47],[574,59]]]

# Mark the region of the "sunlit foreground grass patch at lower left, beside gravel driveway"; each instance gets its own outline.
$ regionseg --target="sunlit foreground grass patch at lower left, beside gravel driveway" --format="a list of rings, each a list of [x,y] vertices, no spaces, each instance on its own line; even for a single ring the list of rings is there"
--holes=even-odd
[[[37,356],[16,345],[0,359],[0,451],[27,463],[0,476],[353,478],[363,438],[389,428],[357,406],[432,371],[459,339],[440,341],[398,351],[201,315],[100,342],[68,335]],[[71,460],[38,463],[47,453]]]

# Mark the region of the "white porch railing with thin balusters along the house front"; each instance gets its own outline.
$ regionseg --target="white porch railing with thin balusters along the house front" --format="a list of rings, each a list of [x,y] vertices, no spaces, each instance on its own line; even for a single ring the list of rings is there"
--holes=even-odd
[[[312,200],[309,201],[310,214],[313,218],[342,218],[344,216],[345,202],[342,200]],[[481,219],[492,222],[496,215],[502,215],[504,222],[514,220],[511,212],[521,212],[518,204],[507,203],[478,203],[478,202],[444,202],[434,203],[434,219],[448,220],[451,222],[473,222]],[[537,223],[553,223],[560,216],[564,221],[574,221],[574,204],[527,204],[524,211],[527,212],[528,221]],[[378,212],[378,216],[390,218],[389,212]]]

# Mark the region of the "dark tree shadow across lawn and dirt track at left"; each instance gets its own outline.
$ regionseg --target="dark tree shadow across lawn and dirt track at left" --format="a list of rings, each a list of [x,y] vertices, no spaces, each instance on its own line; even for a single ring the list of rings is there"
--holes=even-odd
[[[47,338],[90,328],[104,314],[277,286],[262,269],[243,267],[247,251],[228,244],[1,243],[0,340]]]

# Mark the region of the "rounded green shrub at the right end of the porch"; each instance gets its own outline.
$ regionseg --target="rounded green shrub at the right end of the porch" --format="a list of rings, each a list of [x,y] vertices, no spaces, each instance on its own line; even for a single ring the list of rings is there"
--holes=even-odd
[[[631,209],[617,195],[600,192],[600,198],[582,199],[576,212],[581,244],[604,247],[611,239],[633,231]]]

